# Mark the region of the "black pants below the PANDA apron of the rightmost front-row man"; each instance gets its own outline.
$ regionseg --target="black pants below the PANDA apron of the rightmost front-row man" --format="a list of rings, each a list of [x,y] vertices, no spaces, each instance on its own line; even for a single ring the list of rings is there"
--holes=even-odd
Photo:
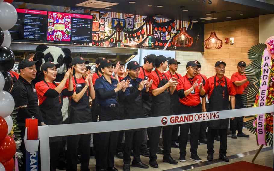
[[[226,154],[227,150],[227,129],[207,129],[207,154],[214,154],[214,139],[215,134],[219,132],[220,136],[220,150],[219,154]]]

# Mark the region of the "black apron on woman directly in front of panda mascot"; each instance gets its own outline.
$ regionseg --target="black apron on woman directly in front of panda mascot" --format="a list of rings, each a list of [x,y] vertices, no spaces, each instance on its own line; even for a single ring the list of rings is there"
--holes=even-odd
[[[48,83],[44,80],[45,84],[49,87]],[[56,87],[57,84],[52,82]],[[39,109],[41,111],[42,117],[45,124],[47,125],[59,125],[63,123],[62,115],[63,106],[63,95],[60,93],[58,97],[50,98],[47,97],[46,100],[40,104]],[[50,142],[61,141],[62,137],[51,137]]]

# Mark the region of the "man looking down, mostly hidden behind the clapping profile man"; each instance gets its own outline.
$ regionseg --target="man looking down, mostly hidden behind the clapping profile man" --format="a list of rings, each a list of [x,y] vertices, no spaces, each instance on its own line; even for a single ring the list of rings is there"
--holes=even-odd
[[[138,78],[141,78],[142,80],[147,80],[148,79],[148,75],[151,73],[151,71],[154,69],[154,62],[155,62],[155,58],[157,56],[155,54],[149,54],[147,56],[145,56],[144,58],[144,65],[142,67],[140,67],[140,73]],[[144,109],[144,113],[145,113],[145,117],[148,117],[148,115],[150,115],[151,113],[151,96],[149,96],[149,99],[147,101],[143,100],[143,109]],[[147,129],[143,129],[142,130],[142,141],[141,141],[141,155],[145,156],[145,157],[149,157],[149,150],[147,148]],[[158,147],[158,151],[163,153],[163,150],[160,149],[160,147]],[[159,153],[158,153],[159,154]]]

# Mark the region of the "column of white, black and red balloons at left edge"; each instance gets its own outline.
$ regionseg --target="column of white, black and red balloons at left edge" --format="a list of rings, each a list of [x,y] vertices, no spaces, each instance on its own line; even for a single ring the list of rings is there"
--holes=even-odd
[[[14,109],[14,100],[8,92],[12,87],[12,79],[9,71],[15,63],[11,45],[11,29],[17,21],[17,12],[11,0],[0,0],[0,171],[12,171],[14,169],[14,155],[16,145],[14,139],[8,134],[13,127],[10,116]]]

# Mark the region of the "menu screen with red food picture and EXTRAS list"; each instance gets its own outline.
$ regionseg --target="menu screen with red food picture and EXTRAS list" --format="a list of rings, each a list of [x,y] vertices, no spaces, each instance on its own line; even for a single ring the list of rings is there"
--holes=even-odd
[[[92,15],[48,11],[47,40],[91,42]]]

